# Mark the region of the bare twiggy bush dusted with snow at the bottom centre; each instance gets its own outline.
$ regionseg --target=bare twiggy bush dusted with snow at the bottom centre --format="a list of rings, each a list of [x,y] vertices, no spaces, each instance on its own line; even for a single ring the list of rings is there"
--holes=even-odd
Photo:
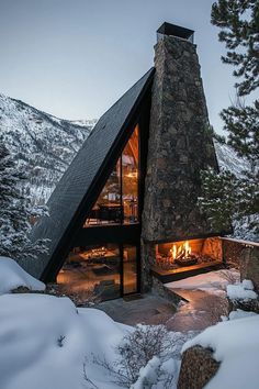
[[[113,364],[93,356],[94,364],[104,367],[115,385],[148,389],[155,388],[153,385],[159,381],[165,389],[172,388],[171,382],[177,375],[172,359],[176,347],[173,336],[165,325],[136,325],[115,347],[115,353],[117,359]],[[167,366],[168,359],[171,360],[171,370]]]

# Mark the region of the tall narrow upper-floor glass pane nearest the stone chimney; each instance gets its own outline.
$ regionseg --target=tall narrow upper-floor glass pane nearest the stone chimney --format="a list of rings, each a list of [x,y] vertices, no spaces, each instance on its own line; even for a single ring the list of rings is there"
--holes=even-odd
[[[122,153],[122,198],[126,224],[138,222],[138,133],[136,125]]]

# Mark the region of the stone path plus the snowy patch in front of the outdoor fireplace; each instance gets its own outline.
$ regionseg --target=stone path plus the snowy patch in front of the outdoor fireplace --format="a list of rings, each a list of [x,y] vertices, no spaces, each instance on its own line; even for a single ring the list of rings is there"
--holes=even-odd
[[[144,294],[133,301],[105,301],[97,308],[124,324],[165,324],[170,331],[202,331],[227,314],[227,278],[238,281],[239,273],[235,269],[224,271],[228,277],[217,270],[166,284],[168,289],[187,300],[177,311],[168,300],[155,294]]]

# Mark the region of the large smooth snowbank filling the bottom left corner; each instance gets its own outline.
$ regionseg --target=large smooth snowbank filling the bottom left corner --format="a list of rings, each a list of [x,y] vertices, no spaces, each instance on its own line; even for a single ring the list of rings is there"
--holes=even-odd
[[[113,362],[125,330],[95,309],[77,310],[68,298],[0,296],[0,388],[82,389],[83,362],[100,389],[116,389],[91,357]]]

